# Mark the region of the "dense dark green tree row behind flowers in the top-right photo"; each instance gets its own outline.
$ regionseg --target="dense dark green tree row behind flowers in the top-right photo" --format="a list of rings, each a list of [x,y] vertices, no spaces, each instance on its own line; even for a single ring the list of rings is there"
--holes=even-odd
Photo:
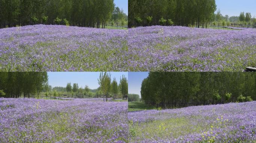
[[[215,0],[129,0],[128,26],[181,25],[207,27]]]

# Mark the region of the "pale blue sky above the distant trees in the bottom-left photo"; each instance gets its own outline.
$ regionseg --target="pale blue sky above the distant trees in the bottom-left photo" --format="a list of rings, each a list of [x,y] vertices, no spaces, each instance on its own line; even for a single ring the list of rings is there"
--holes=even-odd
[[[128,79],[128,72],[108,72],[111,74],[113,80],[116,77],[116,81],[119,83],[120,77],[125,75]],[[79,87],[85,87],[88,85],[90,89],[96,89],[99,87],[98,78],[100,72],[48,72],[49,85],[52,87],[61,86],[66,87],[68,82],[78,83]]]

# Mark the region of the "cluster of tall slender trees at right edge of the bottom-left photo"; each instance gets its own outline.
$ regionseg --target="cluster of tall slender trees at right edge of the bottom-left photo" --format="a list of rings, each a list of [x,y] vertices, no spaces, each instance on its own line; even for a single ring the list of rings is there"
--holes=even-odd
[[[113,79],[113,81],[111,81],[110,73],[100,73],[98,83],[100,85],[100,90],[103,93],[103,98],[106,98],[106,101],[110,97],[110,93],[112,93],[113,97],[115,98],[118,92],[120,92],[122,94],[122,99],[127,98],[128,80],[124,75],[120,78],[120,82],[118,85],[115,78]]]

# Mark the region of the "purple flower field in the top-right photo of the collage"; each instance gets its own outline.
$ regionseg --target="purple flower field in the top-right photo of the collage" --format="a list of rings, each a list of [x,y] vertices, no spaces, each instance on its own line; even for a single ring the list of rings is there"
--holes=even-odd
[[[128,30],[131,71],[243,71],[256,66],[256,29],[150,26]]]

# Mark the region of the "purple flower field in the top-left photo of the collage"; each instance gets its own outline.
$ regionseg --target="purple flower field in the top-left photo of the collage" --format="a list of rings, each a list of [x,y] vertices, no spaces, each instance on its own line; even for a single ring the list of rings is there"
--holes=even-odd
[[[0,29],[0,71],[125,71],[127,36],[63,25]]]

